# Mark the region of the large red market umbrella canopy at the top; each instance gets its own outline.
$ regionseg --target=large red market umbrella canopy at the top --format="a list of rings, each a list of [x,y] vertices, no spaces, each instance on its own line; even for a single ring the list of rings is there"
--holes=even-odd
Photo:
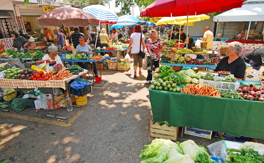
[[[140,16],[170,17],[200,15],[241,7],[245,0],[157,0],[140,12]]]

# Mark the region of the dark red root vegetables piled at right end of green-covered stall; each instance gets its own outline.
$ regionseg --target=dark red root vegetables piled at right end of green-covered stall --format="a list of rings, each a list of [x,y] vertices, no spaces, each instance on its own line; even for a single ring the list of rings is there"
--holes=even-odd
[[[264,101],[264,89],[253,84],[239,86],[238,92],[245,100]]]

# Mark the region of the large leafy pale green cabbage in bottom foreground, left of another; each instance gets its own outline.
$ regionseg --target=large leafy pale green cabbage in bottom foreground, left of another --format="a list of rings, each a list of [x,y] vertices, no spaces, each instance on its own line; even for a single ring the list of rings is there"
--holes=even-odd
[[[152,140],[151,144],[145,145],[145,150],[141,150],[141,163],[162,163],[168,159],[168,154],[173,150],[173,154],[182,153],[178,144],[169,139]],[[172,155],[172,154],[171,154]]]

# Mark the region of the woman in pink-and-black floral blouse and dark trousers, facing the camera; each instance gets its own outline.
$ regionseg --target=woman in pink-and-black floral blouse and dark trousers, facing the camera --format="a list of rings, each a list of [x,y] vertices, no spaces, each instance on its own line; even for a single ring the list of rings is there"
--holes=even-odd
[[[150,30],[149,39],[146,44],[146,51],[150,54],[151,59],[154,63],[154,67],[159,67],[160,52],[163,51],[162,43],[158,38],[158,32],[156,30]],[[148,76],[146,84],[152,80],[152,71],[148,70]]]

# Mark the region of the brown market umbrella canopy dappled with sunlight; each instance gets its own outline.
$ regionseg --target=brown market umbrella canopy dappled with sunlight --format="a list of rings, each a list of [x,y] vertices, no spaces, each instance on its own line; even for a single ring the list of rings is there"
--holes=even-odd
[[[59,7],[44,13],[37,19],[39,26],[73,27],[98,26],[99,20],[82,9],[70,6]]]

